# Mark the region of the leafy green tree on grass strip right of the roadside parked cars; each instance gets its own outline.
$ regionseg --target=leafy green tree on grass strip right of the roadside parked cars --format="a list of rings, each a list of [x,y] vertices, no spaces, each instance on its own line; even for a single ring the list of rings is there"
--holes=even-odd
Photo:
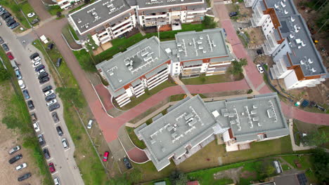
[[[75,104],[75,107],[84,107],[84,103],[81,101],[80,98],[80,92],[77,88],[56,88],[56,93],[58,93],[58,96],[62,100],[66,102],[73,102]]]

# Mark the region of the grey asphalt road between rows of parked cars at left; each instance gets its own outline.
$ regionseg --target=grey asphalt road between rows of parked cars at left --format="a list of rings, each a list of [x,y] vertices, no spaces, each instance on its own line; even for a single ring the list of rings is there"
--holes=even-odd
[[[32,53],[38,52],[41,56],[42,64],[46,66],[46,71],[49,72],[49,68],[44,61],[44,56],[41,55],[41,52],[37,51],[34,46],[32,46],[32,43],[29,43],[33,39],[30,38],[30,41],[22,43],[22,39],[17,38],[11,29],[6,27],[6,24],[4,24],[2,19],[1,22],[3,24],[0,26],[0,36],[7,43],[8,47],[10,48],[9,51],[11,51],[15,57],[15,61],[20,64],[19,67],[22,74],[22,80],[25,83],[26,89],[30,93],[30,100],[32,100],[34,103],[35,109],[30,111],[30,113],[32,114],[32,112],[35,112],[37,114],[39,126],[41,129],[41,131],[37,134],[43,134],[46,141],[46,145],[43,146],[42,149],[48,148],[51,155],[51,158],[47,160],[47,163],[54,163],[56,167],[56,172],[52,174],[53,178],[59,177],[61,184],[84,184],[84,181],[82,180],[82,177],[79,173],[79,168],[77,168],[77,164],[73,158],[75,146],[72,142],[69,132],[67,131],[67,127],[63,119],[63,104],[57,97],[57,100],[60,103],[60,109],[57,109],[56,111],[58,113],[60,122],[54,123],[53,118],[51,117],[51,113],[46,106],[44,93],[41,90],[46,85],[52,85],[53,88],[55,88],[53,79],[51,78],[51,81],[40,85],[37,74],[32,67],[30,55]],[[63,137],[60,137],[56,131],[56,127],[58,125],[60,125],[64,132],[63,137],[65,137],[68,141],[70,146],[68,149],[63,148],[61,143],[61,139]]]

